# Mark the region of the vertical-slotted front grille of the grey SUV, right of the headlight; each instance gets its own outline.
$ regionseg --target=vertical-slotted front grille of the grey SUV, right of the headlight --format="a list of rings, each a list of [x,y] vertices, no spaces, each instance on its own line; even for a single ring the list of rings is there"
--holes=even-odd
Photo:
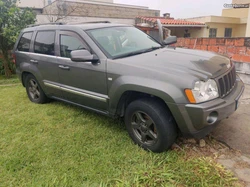
[[[222,77],[217,79],[219,85],[220,96],[225,97],[228,95],[235,86],[236,71],[235,66]]]

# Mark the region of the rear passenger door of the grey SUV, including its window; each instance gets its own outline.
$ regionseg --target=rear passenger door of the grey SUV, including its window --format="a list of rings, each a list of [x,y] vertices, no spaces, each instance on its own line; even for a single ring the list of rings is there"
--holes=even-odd
[[[30,53],[31,72],[40,82],[47,96],[62,97],[58,84],[58,62],[55,55],[55,30],[35,32]]]

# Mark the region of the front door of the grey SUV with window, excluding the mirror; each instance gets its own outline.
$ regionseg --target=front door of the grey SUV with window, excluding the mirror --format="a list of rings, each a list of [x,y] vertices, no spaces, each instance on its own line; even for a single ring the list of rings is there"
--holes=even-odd
[[[74,32],[60,31],[59,35],[59,81],[65,100],[107,112],[108,96],[106,60],[98,63],[73,62],[71,51],[89,49],[84,40]]]

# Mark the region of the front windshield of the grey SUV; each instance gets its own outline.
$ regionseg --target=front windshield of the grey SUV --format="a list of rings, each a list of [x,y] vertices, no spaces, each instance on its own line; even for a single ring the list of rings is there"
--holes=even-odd
[[[158,42],[135,27],[94,29],[87,33],[112,59],[137,55],[161,47]]]

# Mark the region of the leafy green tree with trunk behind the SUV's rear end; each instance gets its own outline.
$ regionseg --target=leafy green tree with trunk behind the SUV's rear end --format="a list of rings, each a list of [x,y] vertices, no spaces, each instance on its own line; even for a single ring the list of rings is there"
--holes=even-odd
[[[16,0],[0,0],[0,53],[3,56],[5,75],[10,77],[9,51],[13,48],[20,31],[35,23],[36,15],[32,9],[20,9]]]

